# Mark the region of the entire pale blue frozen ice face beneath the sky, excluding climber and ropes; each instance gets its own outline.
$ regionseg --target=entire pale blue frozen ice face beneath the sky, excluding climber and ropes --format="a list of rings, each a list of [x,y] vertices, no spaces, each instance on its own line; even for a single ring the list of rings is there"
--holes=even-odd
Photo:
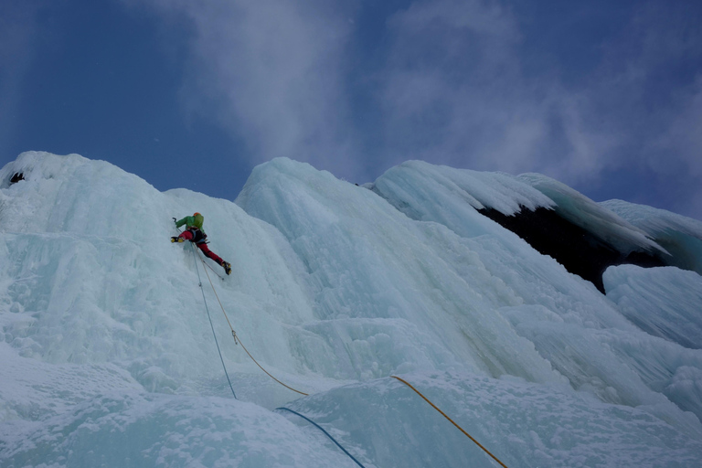
[[[234,203],[21,154],[0,171],[0,465],[357,466],[281,406],[367,467],[496,465],[398,375],[510,467],[697,466],[700,276],[611,268],[603,296],[476,211],[570,209],[658,249],[544,180],[409,162],[369,190],[275,159]],[[232,264],[217,296],[168,242],[194,211]]]

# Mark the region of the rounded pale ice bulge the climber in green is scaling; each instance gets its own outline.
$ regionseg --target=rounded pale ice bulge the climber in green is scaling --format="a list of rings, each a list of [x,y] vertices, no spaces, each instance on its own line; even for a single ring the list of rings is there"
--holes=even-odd
[[[194,257],[168,241],[176,234],[172,217],[200,210],[212,250],[237,265],[236,280],[218,285],[223,301],[237,305],[229,313],[273,339],[265,350],[250,347],[271,364],[297,365],[277,344],[287,344],[287,323],[312,312],[297,274],[302,267],[275,229],[229,201],[186,190],[162,194],[77,155],[23,154],[0,176],[16,171],[25,180],[0,195],[0,252],[5,342],[21,356],[117,362],[156,391],[188,392],[219,377],[220,365],[208,358],[216,349],[202,320]],[[223,342],[228,356],[240,356]]]

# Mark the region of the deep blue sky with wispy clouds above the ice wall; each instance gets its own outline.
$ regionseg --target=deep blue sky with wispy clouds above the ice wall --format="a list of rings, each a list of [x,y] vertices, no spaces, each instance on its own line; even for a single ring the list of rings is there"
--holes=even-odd
[[[420,159],[702,219],[701,24],[692,0],[0,0],[0,166],[234,199],[278,156],[359,184]]]

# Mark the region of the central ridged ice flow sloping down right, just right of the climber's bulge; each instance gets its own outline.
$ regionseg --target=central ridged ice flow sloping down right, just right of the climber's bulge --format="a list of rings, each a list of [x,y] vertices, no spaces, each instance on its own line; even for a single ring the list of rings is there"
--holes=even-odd
[[[335,378],[454,367],[559,378],[495,314],[495,303],[520,299],[451,230],[285,159],[254,169],[236,201],[279,229],[303,261],[318,318],[307,330],[341,359]],[[503,346],[494,346],[497,336]]]

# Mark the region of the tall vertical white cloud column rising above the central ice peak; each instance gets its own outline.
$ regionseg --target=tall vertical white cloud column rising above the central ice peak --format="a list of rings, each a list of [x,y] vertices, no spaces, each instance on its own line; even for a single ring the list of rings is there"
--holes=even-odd
[[[347,155],[342,58],[352,27],[348,6],[321,0],[137,3],[187,18],[186,108],[212,113],[248,144],[254,162],[290,156],[328,168],[330,158]]]

